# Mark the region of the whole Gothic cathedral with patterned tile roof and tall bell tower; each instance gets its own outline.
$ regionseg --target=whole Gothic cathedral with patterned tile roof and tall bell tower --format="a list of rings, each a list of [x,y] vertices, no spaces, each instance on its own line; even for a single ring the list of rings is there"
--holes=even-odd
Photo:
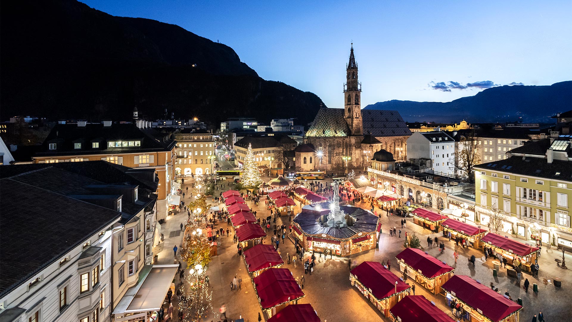
[[[344,109],[321,107],[306,132],[307,143],[319,158],[315,167],[363,170],[374,152],[382,148],[395,159],[406,160],[406,141],[411,131],[399,112],[362,109],[362,83],[358,81],[353,44],[345,71]]]

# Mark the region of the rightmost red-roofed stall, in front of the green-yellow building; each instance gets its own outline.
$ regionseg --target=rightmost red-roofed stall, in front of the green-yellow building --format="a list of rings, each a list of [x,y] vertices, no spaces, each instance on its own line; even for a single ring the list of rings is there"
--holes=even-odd
[[[530,272],[530,265],[535,264],[537,260],[538,248],[529,244],[523,244],[496,233],[488,233],[480,241],[495,249],[497,253],[501,253],[507,259],[507,264],[513,265],[514,259],[518,257],[521,261],[521,269],[526,272]]]

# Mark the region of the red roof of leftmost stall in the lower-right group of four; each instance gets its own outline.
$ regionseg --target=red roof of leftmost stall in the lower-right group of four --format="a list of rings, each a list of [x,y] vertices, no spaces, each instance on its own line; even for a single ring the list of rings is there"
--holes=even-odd
[[[386,299],[395,294],[395,282],[398,282],[398,293],[411,288],[411,286],[384,268],[379,262],[362,262],[349,273],[358,278],[358,281],[363,286],[371,289],[372,294],[378,300]]]

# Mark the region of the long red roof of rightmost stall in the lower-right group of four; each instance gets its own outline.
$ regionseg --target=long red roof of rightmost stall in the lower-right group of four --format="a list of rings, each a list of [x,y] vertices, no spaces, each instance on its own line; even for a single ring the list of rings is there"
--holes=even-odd
[[[466,275],[455,275],[441,287],[454,293],[454,296],[471,308],[480,309],[484,316],[495,322],[502,321],[522,309],[521,305]]]

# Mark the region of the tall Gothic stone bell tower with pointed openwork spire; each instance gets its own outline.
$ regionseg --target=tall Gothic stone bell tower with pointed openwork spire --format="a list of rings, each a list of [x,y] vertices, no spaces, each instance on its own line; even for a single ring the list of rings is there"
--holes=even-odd
[[[349,135],[363,135],[362,105],[360,103],[362,84],[358,82],[358,64],[355,56],[353,56],[353,43],[345,71],[347,76],[347,83],[344,84],[345,121],[349,126]]]

